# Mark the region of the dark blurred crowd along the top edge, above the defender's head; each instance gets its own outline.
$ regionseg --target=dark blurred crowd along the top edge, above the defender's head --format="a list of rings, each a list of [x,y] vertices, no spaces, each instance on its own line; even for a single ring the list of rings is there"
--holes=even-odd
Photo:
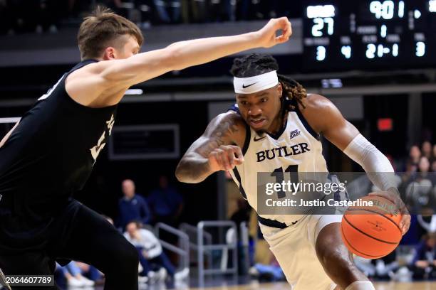
[[[0,34],[56,33],[78,25],[102,5],[142,28],[160,24],[246,21],[287,16],[292,1],[280,0],[0,0]]]

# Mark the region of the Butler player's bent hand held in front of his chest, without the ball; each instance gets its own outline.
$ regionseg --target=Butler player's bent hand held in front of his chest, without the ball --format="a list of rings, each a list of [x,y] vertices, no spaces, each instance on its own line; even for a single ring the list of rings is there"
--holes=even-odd
[[[209,154],[209,166],[212,171],[232,170],[244,162],[242,150],[234,145],[221,145]]]

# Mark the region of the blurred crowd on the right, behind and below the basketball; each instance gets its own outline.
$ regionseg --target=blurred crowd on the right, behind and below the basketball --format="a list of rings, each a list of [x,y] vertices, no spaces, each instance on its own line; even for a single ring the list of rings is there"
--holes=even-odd
[[[398,189],[412,220],[397,250],[382,259],[356,257],[358,267],[374,279],[436,279],[436,144],[410,147],[408,156],[392,160]],[[377,190],[372,188],[372,191]]]

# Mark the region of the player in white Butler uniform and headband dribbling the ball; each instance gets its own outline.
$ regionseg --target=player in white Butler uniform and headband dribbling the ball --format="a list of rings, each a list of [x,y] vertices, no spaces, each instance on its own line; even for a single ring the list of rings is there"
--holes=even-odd
[[[378,151],[326,97],[306,94],[298,82],[277,75],[276,60],[251,54],[234,60],[237,105],[209,123],[176,169],[179,181],[199,183],[230,171],[244,198],[257,209],[257,173],[328,172],[320,134],[368,173],[393,172]],[[371,181],[398,205],[403,234],[410,215],[398,191],[379,174]],[[341,239],[341,215],[262,215],[265,240],[296,290],[370,290],[373,284],[353,263]]]

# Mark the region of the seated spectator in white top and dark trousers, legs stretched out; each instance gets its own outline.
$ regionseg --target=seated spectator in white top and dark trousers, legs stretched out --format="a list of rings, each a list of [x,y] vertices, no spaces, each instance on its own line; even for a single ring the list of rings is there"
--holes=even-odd
[[[139,222],[129,222],[124,236],[137,249],[142,266],[140,276],[148,276],[150,280],[153,280],[156,275],[159,275],[158,278],[164,280],[166,273],[168,273],[175,281],[180,281],[189,274],[189,269],[175,272],[175,267],[162,251],[159,240],[153,232],[141,228]],[[162,272],[161,268],[164,268],[166,272]]]

